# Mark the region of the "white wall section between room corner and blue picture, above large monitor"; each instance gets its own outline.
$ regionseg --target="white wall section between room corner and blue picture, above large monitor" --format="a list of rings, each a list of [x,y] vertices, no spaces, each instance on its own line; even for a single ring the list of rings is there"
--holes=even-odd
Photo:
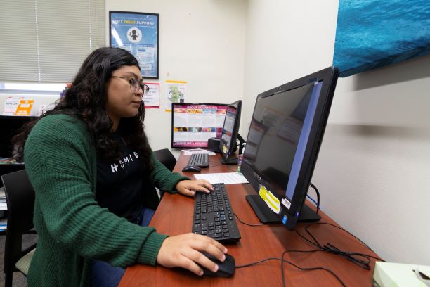
[[[245,136],[257,94],[332,65],[337,19],[336,0],[249,0],[248,5],[241,125]],[[324,9],[335,14],[321,13]]]

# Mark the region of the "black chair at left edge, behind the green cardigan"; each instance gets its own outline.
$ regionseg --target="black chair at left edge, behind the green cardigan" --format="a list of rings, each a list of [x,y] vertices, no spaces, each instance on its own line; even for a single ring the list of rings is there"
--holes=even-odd
[[[4,246],[5,286],[12,286],[13,272],[27,276],[36,244],[22,250],[22,234],[35,234],[34,190],[25,170],[1,176],[8,204],[8,227]]]

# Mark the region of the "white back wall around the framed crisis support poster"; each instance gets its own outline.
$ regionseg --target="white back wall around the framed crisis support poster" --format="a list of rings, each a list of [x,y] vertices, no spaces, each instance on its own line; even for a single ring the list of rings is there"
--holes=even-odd
[[[188,82],[188,102],[242,99],[247,1],[106,0],[105,4],[106,19],[108,11],[159,13],[159,80],[148,82],[161,84],[162,109],[147,110],[145,118],[152,149],[171,146],[171,113],[164,112],[167,79]]]

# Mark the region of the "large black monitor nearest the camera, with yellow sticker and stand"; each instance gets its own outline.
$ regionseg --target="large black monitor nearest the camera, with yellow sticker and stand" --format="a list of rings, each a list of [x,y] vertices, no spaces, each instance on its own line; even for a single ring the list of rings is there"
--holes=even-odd
[[[325,68],[257,96],[240,170],[258,193],[247,200],[261,222],[292,230],[320,219],[304,201],[338,75]]]

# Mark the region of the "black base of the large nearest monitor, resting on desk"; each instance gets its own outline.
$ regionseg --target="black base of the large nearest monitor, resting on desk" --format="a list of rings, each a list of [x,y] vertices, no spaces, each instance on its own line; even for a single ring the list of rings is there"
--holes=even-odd
[[[270,208],[267,207],[266,203],[258,194],[245,196],[249,205],[251,205],[252,210],[254,210],[257,217],[259,217],[260,222],[263,223],[280,223],[280,215],[275,214]],[[297,222],[318,222],[321,217],[309,208],[306,204],[301,208],[299,219]]]

